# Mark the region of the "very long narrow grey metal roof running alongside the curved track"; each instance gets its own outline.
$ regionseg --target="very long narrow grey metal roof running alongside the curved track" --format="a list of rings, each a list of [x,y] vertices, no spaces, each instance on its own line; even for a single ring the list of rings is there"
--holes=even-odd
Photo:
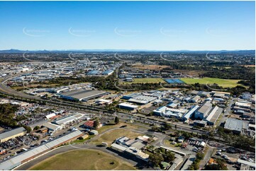
[[[0,170],[11,170],[14,167],[17,167],[18,165],[21,165],[23,160],[26,160],[28,158],[33,158],[33,157],[35,157],[35,155],[43,153],[44,151],[48,151],[48,150],[50,150],[50,148],[58,146],[61,143],[64,143],[65,141],[69,141],[70,139],[72,139],[76,136],[79,136],[79,135],[82,135],[82,132],[77,130],[70,134],[62,136],[60,138],[57,138],[53,141],[50,141],[49,143],[45,143],[42,146],[33,148],[30,151],[26,151],[24,153],[21,153],[20,155],[16,155],[16,157],[10,158],[9,160],[6,160],[3,163],[0,163]]]

